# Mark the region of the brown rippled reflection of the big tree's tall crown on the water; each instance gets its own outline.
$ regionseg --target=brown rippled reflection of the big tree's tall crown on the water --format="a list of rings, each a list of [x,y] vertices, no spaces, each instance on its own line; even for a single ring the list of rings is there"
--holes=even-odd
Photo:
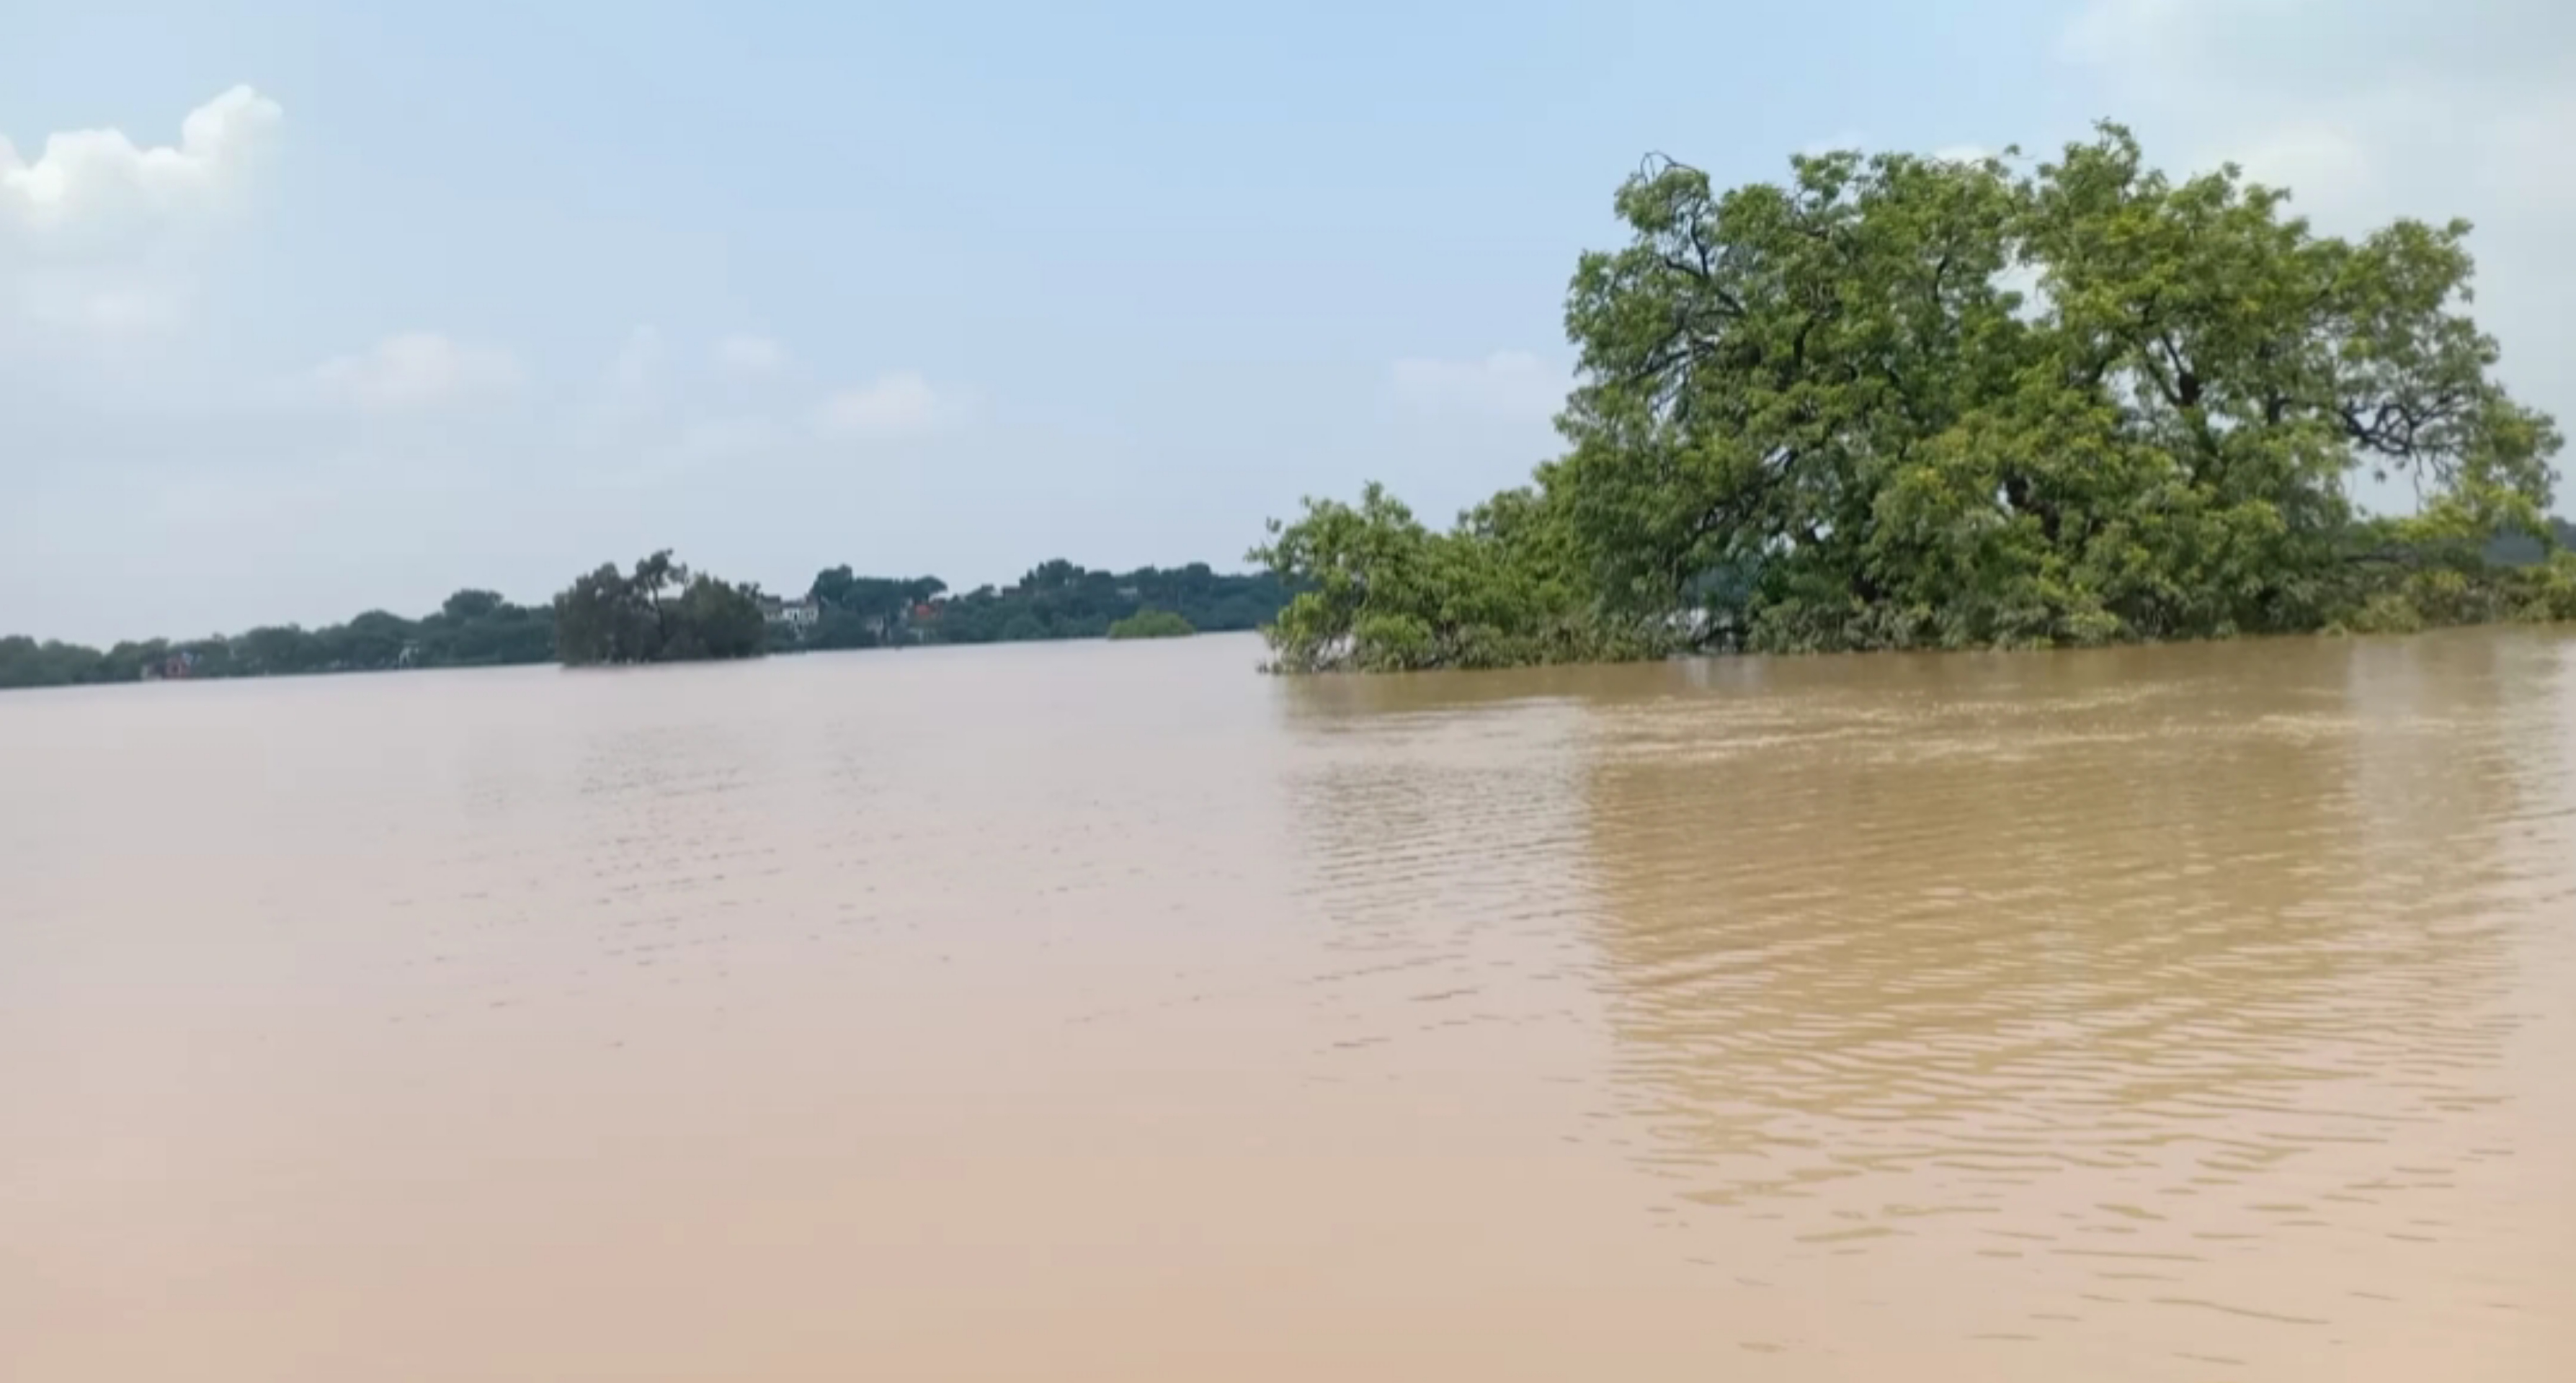
[[[2223,654],[1605,708],[1605,984],[1692,1198],[1994,1205],[2061,1167],[2184,1198],[2486,1095],[2494,677]]]

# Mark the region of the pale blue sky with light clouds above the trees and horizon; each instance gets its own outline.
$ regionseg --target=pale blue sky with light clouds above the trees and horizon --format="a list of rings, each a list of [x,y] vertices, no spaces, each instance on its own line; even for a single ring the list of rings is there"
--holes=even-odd
[[[0,3],[0,631],[654,546],[773,590],[1234,564],[1370,476],[1445,518],[1551,451],[1649,149],[2107,113],[2329,227],[2468,214],[2506,376],[2576,417],[2561,10]]]

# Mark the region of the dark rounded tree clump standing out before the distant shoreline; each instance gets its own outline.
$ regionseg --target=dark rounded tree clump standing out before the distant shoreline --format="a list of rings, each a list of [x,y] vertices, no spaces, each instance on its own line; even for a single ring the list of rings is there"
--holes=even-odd
[[[657,551],[621,574],[616,564],[574,577],[554,597],[554,652],[567,667],[595,662],[693,662],[757,657],[760,597]]]

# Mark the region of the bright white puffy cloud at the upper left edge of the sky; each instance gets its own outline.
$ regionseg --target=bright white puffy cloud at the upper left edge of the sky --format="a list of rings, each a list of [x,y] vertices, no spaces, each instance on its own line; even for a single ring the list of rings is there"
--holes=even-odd
[[[188,111],[178,144],[137,147],[121,129],[72,129],[49,134],[28,162],[0,139],[0,219],[77,234],[211,203],[247,173],[281,118],[276,100],[245,85]]]

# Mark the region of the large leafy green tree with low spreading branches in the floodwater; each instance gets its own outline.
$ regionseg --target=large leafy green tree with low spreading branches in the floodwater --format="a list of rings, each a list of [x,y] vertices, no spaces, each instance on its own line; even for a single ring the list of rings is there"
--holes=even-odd
[[[1561,458],[1450,533],[1370,489],[1255,551],[1283,667],[1662,646],[2030,646],[2571,618],[2555,425],[2494,379],[2468,227],[2316,234],[2117,126],[2002,160],[1850,152],[1716,191],[1654,160],[1566,299]],[[2411,489],[2365,518],[2352,479]]]

